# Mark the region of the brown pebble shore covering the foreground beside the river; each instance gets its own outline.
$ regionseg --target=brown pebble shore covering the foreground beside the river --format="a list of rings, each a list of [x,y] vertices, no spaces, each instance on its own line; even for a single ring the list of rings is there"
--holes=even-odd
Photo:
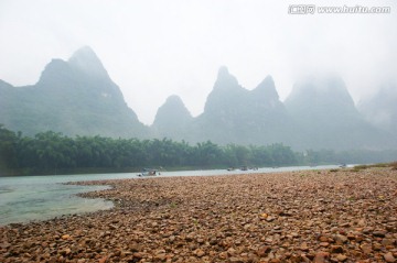
[[[397,171],[87,182],[111,210],[0,228],[0,262],[396,262]]]

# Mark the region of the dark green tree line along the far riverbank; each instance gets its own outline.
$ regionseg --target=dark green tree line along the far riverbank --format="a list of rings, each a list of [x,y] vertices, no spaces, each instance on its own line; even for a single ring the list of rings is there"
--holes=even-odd
[[[69,138],[52,131],[30,138],[0,125],[2,174],[74,173],[84,172],[84,168],[89,168],[86,172],[127,172],[160,166],[288,166],[339,163],[341,158],[350,161],[348,158],[357,156],[361,155],[352,152],[341,156],[333,151],[298,153],[281,143],[266,146],[219,146],[206,141],[190,145],[185,141],[176,142],[170,139],[111,139],[99,135]],[[12,171],[13,173],[10,173]]]

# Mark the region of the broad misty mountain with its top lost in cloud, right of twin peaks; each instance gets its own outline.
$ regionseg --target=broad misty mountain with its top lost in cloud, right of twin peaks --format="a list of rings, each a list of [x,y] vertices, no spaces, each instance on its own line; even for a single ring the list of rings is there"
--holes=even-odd
[[[302,133],[298,147],[377,149],[386,134],[364,120],[339,76],[297,83],[285,105]]]

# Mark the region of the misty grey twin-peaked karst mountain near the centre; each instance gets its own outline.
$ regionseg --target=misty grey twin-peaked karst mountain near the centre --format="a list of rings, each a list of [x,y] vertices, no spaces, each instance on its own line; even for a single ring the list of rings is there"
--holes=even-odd
[[[222,67],[194,130],[200,131],[201,140],[222,144],[290,143],[292,123],[271,76],[247,90]]]

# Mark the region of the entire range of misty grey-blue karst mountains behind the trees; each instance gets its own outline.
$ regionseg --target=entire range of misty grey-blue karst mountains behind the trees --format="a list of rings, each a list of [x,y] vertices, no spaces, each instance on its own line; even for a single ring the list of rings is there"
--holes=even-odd
[[[53,59],[35,85],[0,80],[0,123],[25,135],[52,130],[191,143],[283,143],[294,150],[383,150],[397,145],[396,92],[393,97],[390,90],[380,90],[358,112],[342,78],[314,76],[297,83],[281,102],[271,76],[248,90],[221,67],[202,114],[193,118],[181,98],[171,96],[146,127],[99,58],[83,47],[67,62]]]

